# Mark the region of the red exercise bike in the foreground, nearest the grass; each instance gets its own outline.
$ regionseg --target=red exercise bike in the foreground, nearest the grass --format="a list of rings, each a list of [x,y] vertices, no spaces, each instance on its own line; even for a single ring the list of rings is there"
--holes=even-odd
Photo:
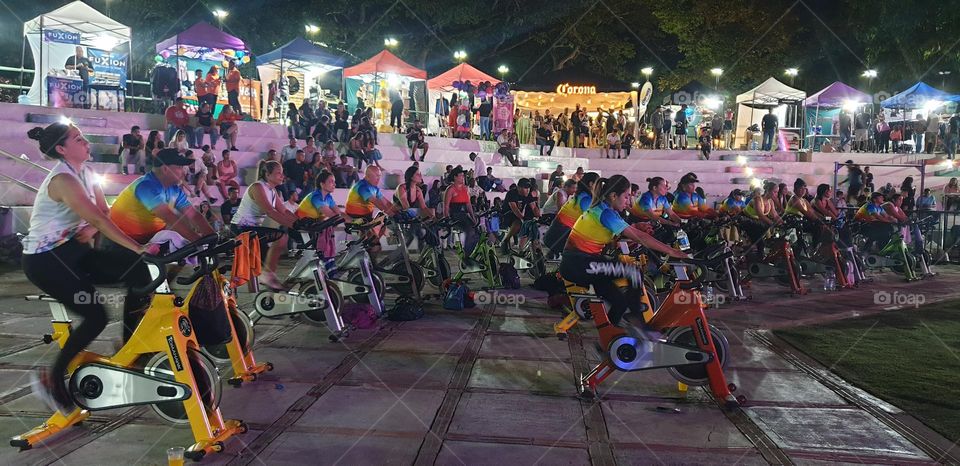
[[[667,369],[686,385],[709,385],[717,401],[728,408],[744,402],[742,396],[734,398],[731,392],[737,387],[728,384],[723,374],[730,345],[723,333],[708,323],[703,312],[706,304],[699,291],[702,284],[690,273],[692,267],[716,267],[731,256],[727,253],[708,260],[679,259],[669,263],[677,277],[673,289],[656,312],[644,313],[646,325],[661,332],[662,340],[650,340],[633,328],[614,326],[602,299],[589,294],[586,287],[568,287],[573,308],[588,310],[589,314],[583,317],[593,318],[600,333],[599,346],[604,351],[603,361],[581,378],[580,395],[595,398],[597,387],[615,371]]]

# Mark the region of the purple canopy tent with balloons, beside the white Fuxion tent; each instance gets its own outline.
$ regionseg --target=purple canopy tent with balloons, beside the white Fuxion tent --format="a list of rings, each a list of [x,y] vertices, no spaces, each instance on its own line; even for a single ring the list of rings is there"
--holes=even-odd
[[[250,61],[250,51],[242,40],[203,21],[161,41],[156,45],[156,51],[158,60],[176,68],[178,79],[186,84],[181,88],[181,95],[190,105],[196,100],[196,90],[193,89],[196,70],[200,70],[201,75],[206,76],[214,66],[222,68],[219,72],[222,80],[226,77],[228,61],[237,60],[242,63]],[[259,93],[258,81],[241,80],[240,106],[253,118],[260,116]],[[214,113],[217,113],[223,105],[227,105],[225,96],[221,89],[217,98],[217,108],[213,109]]]

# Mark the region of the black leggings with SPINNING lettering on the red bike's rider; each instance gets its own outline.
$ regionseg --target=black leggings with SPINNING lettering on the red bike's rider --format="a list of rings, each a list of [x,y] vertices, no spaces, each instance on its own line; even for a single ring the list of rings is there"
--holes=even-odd
[[[597,264],[599,268],[602,268],[603,264],[609,264],[611,266],[609,268],[614,270],[634,271],[636,272],[634,278],[638,284],[621,288],[613,283],[613,278],[624,277],[627,274],[614,271],[600,273],[597,271],[597,266],[591,267],[591,263]],[[627,309],[634,311],[637,315],[643,313],[643,310],[640,309],[640,304],[643,302],[643,288],[641,286],[643,279],[638,268],[624,264],[618,259],[566,250],[563,251],[563,258],[560,260],[560,275],[580,286],[593,285],[597,296],[610,302],[607,317],[610,318],[610,323],[613,325],[619,326],[620,319],[623,318]]]

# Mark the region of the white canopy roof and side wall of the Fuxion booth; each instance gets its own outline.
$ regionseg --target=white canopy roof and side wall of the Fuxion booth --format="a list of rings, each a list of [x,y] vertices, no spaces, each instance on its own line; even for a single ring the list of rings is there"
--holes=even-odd
[[[46,78],[62,73],[64,63],[76,48],[94,48],[109,52],[123,50],[123,78],[126,79],[130,53],[130,28],[77,0],[54,11],[42,14],[23,24],[25,43],[33,52],[33,85],[27,94],[33,105],[47,105]],[[21,55],[23,67],[26,45]],[[114,63],[116,65],[116,63]]]

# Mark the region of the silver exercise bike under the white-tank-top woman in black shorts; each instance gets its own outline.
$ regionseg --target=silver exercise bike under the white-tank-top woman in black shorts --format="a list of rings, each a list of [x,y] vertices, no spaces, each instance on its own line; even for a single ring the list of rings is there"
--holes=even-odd
[[[333,228],[343,223],[343,218],[337,216],[323,221],[314,219],[300,219],[294,229],[301,234],[308,232],[320,233],[327,228]],[[307,235],[304,235],[307,236]],[[364,289],[374,306],[382,313],[380,297],[372,283],[370,264],[365,262],[361,266],[364,277]],[[316,254],[308,257],[304,254],[301,262],[290,272],[284,280],[290,286],[288,291],[260,291],[254,298],[254,310],[250,313],[250,320],[256,324],[261,318],[278,319],[286,316],[299,315],[312,324],[325,323],[330,329],[330,341],[336,342],[349,335],[349,329],[340,315],[340,305],[343,297],[340,288],[327,277],[326,268]],[[360,287],[360,284],[353,284]],[[358,288],[353,288],[358,290]],[[360,293],[360,291],[356,291]],[[378,313],[378,315],[379,315]]]

